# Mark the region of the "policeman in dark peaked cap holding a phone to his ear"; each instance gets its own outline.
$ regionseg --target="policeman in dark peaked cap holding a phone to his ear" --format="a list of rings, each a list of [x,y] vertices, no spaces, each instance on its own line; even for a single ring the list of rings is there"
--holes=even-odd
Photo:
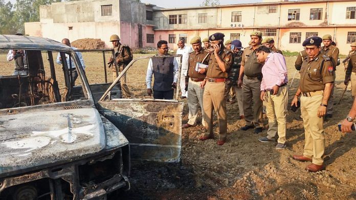
[[[225,35],[222,33],[214,33],[209,36],[214,51],[210,55],[207,77],[201,82],[201,87],[205,87],[203,107],[207,131],[199,139],[204,141],[213,137],[213,110],[215,110],[220,131],[218,145],[223,145],[226,141],[228,123],[224,92],[225,82],[232,64],[232,53],[230,49],[224,47],[224,37]]]

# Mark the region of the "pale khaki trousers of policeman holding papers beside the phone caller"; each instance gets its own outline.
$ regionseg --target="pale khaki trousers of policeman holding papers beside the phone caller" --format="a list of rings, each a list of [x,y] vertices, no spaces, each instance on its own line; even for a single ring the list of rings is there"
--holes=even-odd
[[[202,82],[195,82],[189,79],[189,84],[188,84],[188,107],[189,107],[189,115],[188,115],[188,124],[190,125],[195,125],[196,123],[196,118],[198,116],[198,106],[201,107],[202,113],[204,113],[203,109],[203,94],[204,94],[204,89],[200,87],[200,83]],[[202,124],[203,126],[205,125],[204,122],[204,114],[203,114],[203,119],[202,119]]]

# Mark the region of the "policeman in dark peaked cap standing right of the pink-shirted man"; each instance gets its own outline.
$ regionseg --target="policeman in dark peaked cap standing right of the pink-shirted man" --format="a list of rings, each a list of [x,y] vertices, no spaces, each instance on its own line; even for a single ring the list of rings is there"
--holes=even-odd
[[[303,61],[300,70],[299,88],[293,98],[292,106],[301,102],[301,113],[305,132],[303,155],[294,155],[298,161],[312,161],[306,170],[317,172],[324,169],[323,158],[325,137],[323,116],[331,94],[335,71],[331,59],[320,53],[322,39],[317,36],[307,38],[303,46],[308,58]]]

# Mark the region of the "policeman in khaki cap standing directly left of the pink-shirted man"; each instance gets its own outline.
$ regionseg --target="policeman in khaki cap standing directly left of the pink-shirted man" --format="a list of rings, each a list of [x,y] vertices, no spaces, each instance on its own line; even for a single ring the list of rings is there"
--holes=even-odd
[[[243,51],[238,78],[238,86],[242,86],[243,114],[246,121],[246,126],[241,127],[241,130],[247,131],[255,128],[254,133],[258,134],[262,132],[263,126],[262,101],[260,99],[263,63],[257,61],[256,49],[261,46],[262,34],[261,32],[252,32],[250,37],[251,46],[246,47]]]

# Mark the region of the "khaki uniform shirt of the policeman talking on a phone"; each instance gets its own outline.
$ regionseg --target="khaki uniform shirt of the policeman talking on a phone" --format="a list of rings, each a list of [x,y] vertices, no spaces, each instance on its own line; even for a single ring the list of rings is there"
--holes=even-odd
[[[220,67],[217,64],[215,56],[219,56],[221,60],[224,62],[225,69],[226,69],[225,72],[221,71]],[[232,58],[231,50],[226,47],[220,50],[219,55],[215,55],[215,52],[212,52],[210,54],[207,77],[211,79],[222,79],[222,78],[227,79],[230,71],[230,66],[232,65],[232,61],[233,61],[232,59],[233,58]]]

